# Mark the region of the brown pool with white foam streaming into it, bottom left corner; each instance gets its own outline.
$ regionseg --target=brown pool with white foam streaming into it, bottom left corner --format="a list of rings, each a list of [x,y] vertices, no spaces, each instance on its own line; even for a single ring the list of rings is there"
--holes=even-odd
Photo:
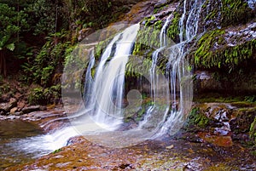
[[[34,142],[41,142],[39,144]],[[0,122],[0,170],[29,162],[52,151],[44,148],[49,141],[38,125],[20,120]],[[36,145],[36,146],[35,146]]]

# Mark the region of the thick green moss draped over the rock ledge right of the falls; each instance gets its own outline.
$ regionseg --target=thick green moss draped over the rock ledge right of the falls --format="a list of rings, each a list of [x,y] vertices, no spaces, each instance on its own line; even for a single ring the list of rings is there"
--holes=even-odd
[[[224,30],[214,30],[205,33],[197,43],[195,51],[195,66],[200,68],[226,68],[229,71],[242,66],[249,59],[253,59],[256,40],[236,45],[224,46]],[[218,48],[214,48],[218,44]]]

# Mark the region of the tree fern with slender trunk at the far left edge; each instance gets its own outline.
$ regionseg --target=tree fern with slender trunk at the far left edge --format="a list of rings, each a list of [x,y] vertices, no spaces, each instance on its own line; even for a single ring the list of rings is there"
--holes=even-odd
[[[19,43],[20,31],[28,27],[26,16],[23,11],[0,3],[0,74],[4,77],[7,75],[7,52],[15,50],[15,44]]]

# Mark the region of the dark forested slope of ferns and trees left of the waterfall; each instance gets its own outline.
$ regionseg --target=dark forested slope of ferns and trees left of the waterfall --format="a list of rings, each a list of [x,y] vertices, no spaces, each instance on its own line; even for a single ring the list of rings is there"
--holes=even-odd
[[[63,66],[79,60],[73,55],[79,31],[107,26],[132,3],[137,1],[0,0],[0,74],[20,73],[20,81],[39,86],[32,89],[29,101],[49,103],[61,94],[55,87]]]

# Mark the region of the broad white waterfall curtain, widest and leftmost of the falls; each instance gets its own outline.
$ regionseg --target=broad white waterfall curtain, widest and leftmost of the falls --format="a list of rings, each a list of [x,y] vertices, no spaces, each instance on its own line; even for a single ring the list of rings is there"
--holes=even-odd
[[[138,30],[139,24],[133,25],[113,37],[102,54],[94,80],[87,86],[93,95],[89,97],[89,103],[85,107],[90,109],[93,120],[104,128],[115,129],[123,123],[125,65]],[[109,58],[112,59],[108,61]],[[88,68],[90,75],[91,66]],[[86,81],[87,79],[90,81],[91,77],[88,76]]]

